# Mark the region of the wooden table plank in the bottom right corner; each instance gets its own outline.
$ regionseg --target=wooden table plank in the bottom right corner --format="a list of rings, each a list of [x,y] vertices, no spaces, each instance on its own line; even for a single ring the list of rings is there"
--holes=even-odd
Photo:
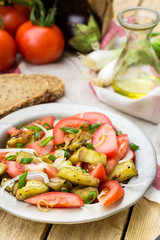
[[[133,208],[125,240],[155,240],[160,235],[160,205],[141,199]]]

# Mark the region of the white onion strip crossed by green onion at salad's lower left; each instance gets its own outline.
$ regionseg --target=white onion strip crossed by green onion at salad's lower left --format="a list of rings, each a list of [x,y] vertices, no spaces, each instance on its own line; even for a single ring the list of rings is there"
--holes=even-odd
[[[22,173],[22,174],[23,174],[23,173]],[[3,193],[4,193],[5,188],[6,188],[10,183],[13,183],[13,182],[17,181],[22,174],[14,177],[14,178],[12,178],[11,180],[7,181],[7,182],[4,184],[4,186],[3,186],[3,187],[1,188],[1,190],[0,190],[0,196],[1,196],[1,197],[3,196]],[[38,178],[37,178],[37,177],[38,177]],[[39,180],[39,179],[40,179],[39,177],[43,178],[43,180],[44,180],[45,183],[49,183],[48,176],[47,176],[47,174],[44,173],[44,172],[40,172],[40,171],[30,171],[30,172],[28,172],[28,174],[27,174],[27,180],[32,180],[32,179]]]

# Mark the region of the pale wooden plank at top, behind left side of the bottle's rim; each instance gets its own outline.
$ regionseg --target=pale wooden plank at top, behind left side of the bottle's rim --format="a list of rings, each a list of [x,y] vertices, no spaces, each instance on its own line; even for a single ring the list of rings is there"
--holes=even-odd
[[[114,0],[113,1],[113,13],[114,13],[114,19],[117,20],[118,13],[129,7],[135,7],[140,4],[140,0]]]

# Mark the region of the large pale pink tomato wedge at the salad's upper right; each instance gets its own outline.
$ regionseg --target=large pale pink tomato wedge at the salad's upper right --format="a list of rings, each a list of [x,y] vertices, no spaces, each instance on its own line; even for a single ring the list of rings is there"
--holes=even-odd
[[[103,123],[93,134],[92,144],[97,152],[107,155],[107,158],[117,157],[117,138],[114,129]]]

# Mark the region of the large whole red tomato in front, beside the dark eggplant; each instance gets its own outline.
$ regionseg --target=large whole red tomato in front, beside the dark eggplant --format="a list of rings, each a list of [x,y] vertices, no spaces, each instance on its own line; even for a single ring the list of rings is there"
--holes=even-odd
[[[65,45],[59,27],[36,26],[30,21],[19,27],[16,41],[23,57],[35,64],[56,61],[62,55]]]

